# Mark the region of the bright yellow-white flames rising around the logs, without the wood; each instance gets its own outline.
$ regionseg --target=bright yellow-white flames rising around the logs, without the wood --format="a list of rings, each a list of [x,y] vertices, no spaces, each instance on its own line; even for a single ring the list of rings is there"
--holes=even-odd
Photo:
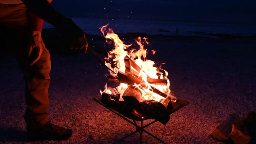
[[[140,68],[141,71],[139,71],[139,78],[142,79],[142,81],[146,84],[146,87],[141,87],[140,84],[135,84],[135,88],[139,89],[142,92],[142,98],[145,100],[153,99],[156,101],[163,101],[165,98],[154,93],[150,87],[153,86],[163,93],[167,95],[167,97],[172,97],[171,91],[169,89],[170,87],[170,81],[167,78],[168,72],[163,70],[161,66],[155,67],[154,61],[151,60],[146,60],[147,56],[147,49],[144,49],[144,44],[149,44],[147,42],[147,39],[144,37],[141,39],[141,37],[138,37],[135,39],[135,42],[139,46],[139,49],[128,49],[130,48],[130,45],[124,44],[122,40],[119,39],[118,35],[113,32],[112,29],[107,29],[107,25],[102,26],[100,28],[101,32],[103,33],[103,36],[105,37],[106,41],[108,42],[111,40],[114,44],[114,49],[108,52],[108,57],[105,59],[112,60],[116,67],[112,67],[111,64],[105,63],[106,66],[108,66],[111,70],[113,70],[116,74],[118,71],[125,72],[125,63],[124,63],[124,58],[125,56],[130,57]],[[155,54],[156,51],[152,50],[152,53]],[[164,64],[164,63],[162,63]],[[133,67],[131,69],[135,70]],[[160,72],[160,70],[164,71],[164,73]],[[136,70],[135,70],[136,71]],[[112,76],[117,76],[115,73],[110,71],[110,74]],[[167,85],[154,85],[154,84],[149,84],[147,82],[147,77],[154,78],[154,79],[166,79],[167,80]],[[128,87],[127,84],[120,83],[118,87],[115,89],[119,94],[122,95],[122,92]],[[111,94],[111,90],[107,88],[107,84],[105,85],[104,91],[105,93]],[[102,93],[102,92],[101,92]],[[172,97],[173,98],[173,97]]]

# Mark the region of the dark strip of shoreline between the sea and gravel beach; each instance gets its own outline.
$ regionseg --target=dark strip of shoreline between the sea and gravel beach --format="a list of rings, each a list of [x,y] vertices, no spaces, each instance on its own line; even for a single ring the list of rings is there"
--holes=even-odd
[[[107,53],[111,50],[106,44],[106,40],[103,35],[92,35],[86,34],[88,45],[98,50],[98,52]],[[145,34],[145,33],[117,33],[119,38],[125,42],[125,44],[132,44],[134,39],[137,37],[146,37],[148,42],[151,43],[161,43],[161,42],[174,42],[174,43],[237,43],[237,44],[255,44],[256,37],[218,37],[218,38],[209,38],[202,36],[182,36],[182,35],[157,35],[157,34]],[[74,54],[75,51],[69,50],[65,42],[61,39],[61,36],[58,34],[55,28],[43,29],[42,38],[45,42],[45,45],[51,52],[51,54]],[[153,46],[152,46],[153,47]],[[157,47],[156,47],[157,48]],[[60,50],[61,49],[61,50]]]

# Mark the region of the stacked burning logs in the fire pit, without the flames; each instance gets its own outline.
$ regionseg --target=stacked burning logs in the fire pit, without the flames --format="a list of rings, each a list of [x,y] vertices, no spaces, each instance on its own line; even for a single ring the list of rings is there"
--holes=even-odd
[[[165,105],[155,100],[142,100],[142,92],[133,87],[134,84],[141,88],[147,88],[148,85],[139,77],[139,72],[142,70],[130,57],[125,56],[125,71],[118,71],[117,76],[107,76],[107,80],[128,84],[128,88],[122,94],[122,99],[128,109],[136,111],[136,114],[156,119],[163,124],[166,124],[169,119],[169,112],[173,109],[171,99],[165,93],[150,85],[152,91],[165,99]],[[132,69],[133,67],[133,69]],[[166,79],[153,79],[147,75],[147,82],[155,85],[167,85]],[[104,100],[108,103],[116,96],[103,94]]]

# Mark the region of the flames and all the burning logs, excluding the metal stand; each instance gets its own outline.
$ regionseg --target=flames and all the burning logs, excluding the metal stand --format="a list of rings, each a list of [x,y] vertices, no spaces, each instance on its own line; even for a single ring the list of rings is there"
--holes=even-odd
[[[148,51],[144,49],[144,45],[149,43],[145,37],[136,38],[137,47],[133,47],[132,44],[124,44],[107,26],[108,24],[100,28],[107,43],[113,45],[108,57],[104,58],[110,72],[107,80],[120,84],[115,88],[106,84],[105,89],[100,91],[102,100],[124,102],[138,115],[167,123],[168,112],[173,109],[172,102],[176,102],[177,98],[171,94],[168,72],[161,68],[164,63],[157,67],[154,61],[146,58]],[[152,50],[150,53],[155,54],[156,51]]]

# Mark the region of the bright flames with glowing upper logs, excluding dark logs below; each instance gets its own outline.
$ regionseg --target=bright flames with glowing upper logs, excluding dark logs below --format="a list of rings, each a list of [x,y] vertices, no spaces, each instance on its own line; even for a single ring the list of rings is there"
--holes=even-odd
[[[146,59],[147,49],[144,49],[144,44],[149,44],[147,42],[147,39],[145,37],[142,39],[141,37],[136,38],[135,42],[139,46],[139,49],[131,48],[131,44],[124,44],[124,42],[119,39],[118,35],[115,34],[112,29],[107,29],[107,26],[108,24],[102,26],[100,30],[103,33],[106,41],[108,43],[114,44],[114,49],[109,51],[108,57],[105,58],[108,61],[114,62],[114,66],[110,63],[105,63],[105,65],[109,69],[113,70],[113,72],[110,71],[110,75],[118,77],[118,73],[121,73],[127,76],[128,79],[133,79],[135,83],[133,86],[135,86],[135,88],[139,89],[142,92],[142,99],[153,99],[162,103],[167,98],[176,99],[174,96],[171,95],[171,91],[169,89],[170,81],[167,78],[168,72],[163,70],[161,66],[155,67],[154,61]],[[152,53],[155,54],[156,51],[152,51]],[[129,65],[127,63],[129,63]],[[160,70],[164,71],[164,73],[160,72]],[[166,81],[166,84],[160,85],[150,83],[150,79],[158,81],[159,79],[160,81],[164,80]],[[121,81],[120,85],[113,90],[112,88],[107,87],[106,84],[103,92],[108,94],[113,94],[113,92],[115,94],[120,94],[121,100],[122,94],[128,86],[128,84],[125,84]],[[167,95],[167,97],[165,98],[158,95],[157,93],[154,93],[153,89],[160,90],[165,95]]]

